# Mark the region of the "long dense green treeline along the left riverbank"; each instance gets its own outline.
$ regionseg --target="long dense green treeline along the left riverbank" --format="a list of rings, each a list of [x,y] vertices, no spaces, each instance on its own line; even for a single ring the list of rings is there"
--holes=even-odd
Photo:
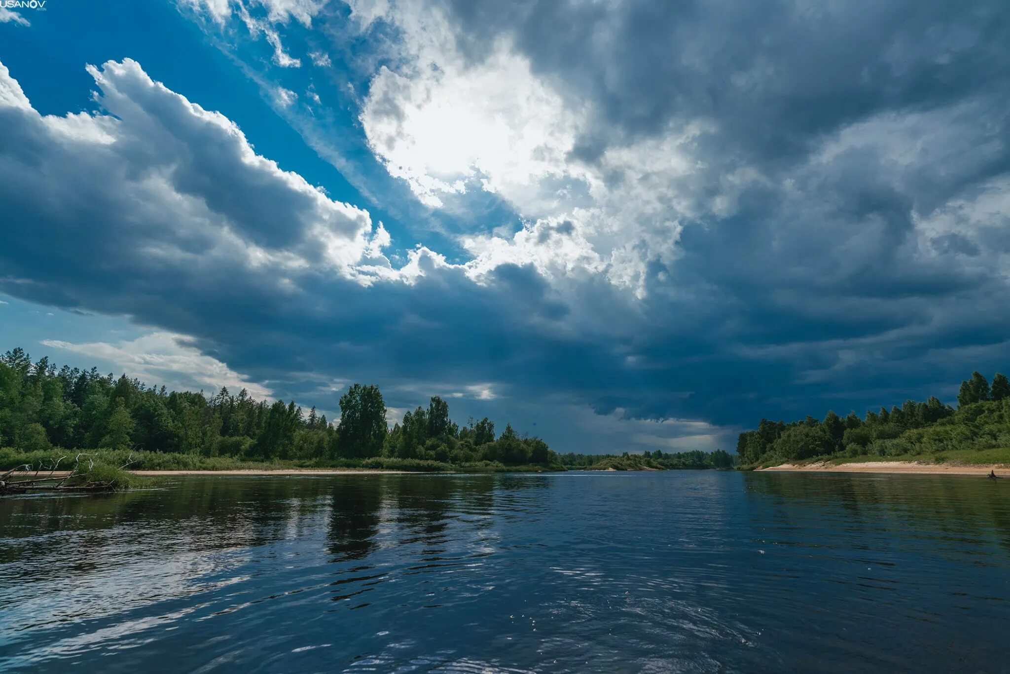
[[[340,397],[332,423],[315,407],[269,403],[242,389],[167,391],[97,369],[57,369],[32,363],[14,349],[0,357],[0,447],[20,452],[66,449],[137,450],[202,457],[324,460],[388,457],[447,463],[553,464],[557,455],[538,438],[488,418],[459,426],[448,404],[432,397],[389,428],[376,386],[355,384]]]

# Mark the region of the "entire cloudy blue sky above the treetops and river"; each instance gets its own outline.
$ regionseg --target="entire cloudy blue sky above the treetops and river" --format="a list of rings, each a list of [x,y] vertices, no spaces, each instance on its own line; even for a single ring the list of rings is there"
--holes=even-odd
[[[1003,0],[0,2],[0,351],[561,452],[1010,370]]]

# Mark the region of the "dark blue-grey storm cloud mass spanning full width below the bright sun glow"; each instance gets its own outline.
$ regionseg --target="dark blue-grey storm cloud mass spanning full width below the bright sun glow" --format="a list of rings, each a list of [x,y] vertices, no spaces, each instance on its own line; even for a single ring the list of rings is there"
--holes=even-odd
[[[220,127],[140,87],[116,112],[139,131],[110,148],[68,150],[0,107],[21,125],[0,137],[0,288],[190,334],[258,380],[492,382],[727,425],[862,411],[1007,367],[1005,3],[446,7],[473,62],[508,36],[587,111],[573,161],[707,122],[672,185],[691,206],[671,212],[675,259],[636,243],[642,298],[600,275],[562,291],[532,265],[476,284],[426,252],[409,283],[321,269],[316,225],[362,248],[371,223],[249,168]],[[715,208],[741,170],[755,178]],[[563,220],[539,244],[572,233]],[[251,262],[254,245],[274,258]]]

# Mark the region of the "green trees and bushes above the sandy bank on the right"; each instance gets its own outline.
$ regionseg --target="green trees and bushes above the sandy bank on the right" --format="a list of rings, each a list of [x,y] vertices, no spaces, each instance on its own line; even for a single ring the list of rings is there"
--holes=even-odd
[[[962,382],[957,408],[936,396],[907,400],[890,410],[823,420],[807,416],[789,423],[762,419],[741,432],[736,453],[743,465],[781,463],[816,457],[938,455],[952,450],[1010,447],[1010,381],[997,373],[992,385],[980,373]]]

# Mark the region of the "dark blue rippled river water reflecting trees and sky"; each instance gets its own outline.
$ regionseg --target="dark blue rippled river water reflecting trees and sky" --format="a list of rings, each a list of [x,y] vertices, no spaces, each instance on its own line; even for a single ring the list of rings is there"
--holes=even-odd
[[[0,669],[1010,671],[1010,485],[176,478],[0,499]]]

